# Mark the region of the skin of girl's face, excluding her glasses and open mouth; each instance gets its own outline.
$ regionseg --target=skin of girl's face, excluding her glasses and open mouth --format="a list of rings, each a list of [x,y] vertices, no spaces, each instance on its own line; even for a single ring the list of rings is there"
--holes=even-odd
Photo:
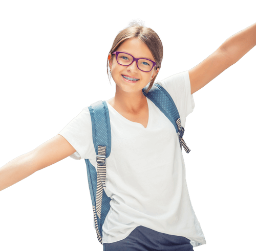
[[[135,58],[148,58],[155,62],[150,49],[138,38],[127,39],[119,46],[117,51],[129,53]],[[155,77],[159,70],[159,68],[156,70],[156,67],[153,67],[150,72],[144,72],[138,69],[136,61],[129,66],[124,66],[117,63],[116,55],[113,55],[113,57],[109,65],[112,78],[116,83],[116,91],[139,92]],[[130,83],[122,77],[123,75],[139,80]]]

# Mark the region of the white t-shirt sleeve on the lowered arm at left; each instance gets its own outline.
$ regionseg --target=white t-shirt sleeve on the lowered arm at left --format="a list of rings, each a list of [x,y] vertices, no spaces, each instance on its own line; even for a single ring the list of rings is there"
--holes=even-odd
[[[69,156],[75,160],[89,159],[93,154],[92,122],[88,107],[74,117],[59,133],[76,149]]]

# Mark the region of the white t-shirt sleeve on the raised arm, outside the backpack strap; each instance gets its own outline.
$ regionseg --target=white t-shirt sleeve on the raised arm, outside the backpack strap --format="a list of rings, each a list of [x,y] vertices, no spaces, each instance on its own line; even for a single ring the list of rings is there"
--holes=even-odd
[[[162,86],[173,98],[181,117],[181,125],[185,127],[186,117],[195,109],[188,70],[176,73],[161,81],[156,81],[155,84]]]

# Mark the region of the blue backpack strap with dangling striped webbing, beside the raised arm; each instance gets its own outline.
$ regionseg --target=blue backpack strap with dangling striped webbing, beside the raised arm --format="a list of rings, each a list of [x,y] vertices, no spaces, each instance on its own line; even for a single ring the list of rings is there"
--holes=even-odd
[[[173,101],[170,94],[159,84],[154,84],[148,93],[145,92],[146,87],[143,88],[143,94],[149,98],[163,113],[164,115],[173,123],[176,132],[179,132],[180,147],[182,146],[185,152],[190,153],[190,149],[187,147],[183,135],[185,129],[181,127],[180,115],[178,109]]]

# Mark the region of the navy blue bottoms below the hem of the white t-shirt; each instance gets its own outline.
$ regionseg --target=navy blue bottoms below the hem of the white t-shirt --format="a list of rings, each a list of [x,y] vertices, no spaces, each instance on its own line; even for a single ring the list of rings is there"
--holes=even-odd
[[[139,226],[125,239],[103,243],[103,251],[193,251],[190,240]]]

